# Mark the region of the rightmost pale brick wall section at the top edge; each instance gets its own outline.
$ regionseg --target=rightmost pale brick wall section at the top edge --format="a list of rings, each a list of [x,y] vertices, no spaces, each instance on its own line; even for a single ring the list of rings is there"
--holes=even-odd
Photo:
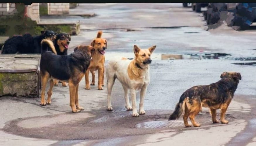
[[[69,3],[48,3],[48,15],[62,15],[69,13]]]

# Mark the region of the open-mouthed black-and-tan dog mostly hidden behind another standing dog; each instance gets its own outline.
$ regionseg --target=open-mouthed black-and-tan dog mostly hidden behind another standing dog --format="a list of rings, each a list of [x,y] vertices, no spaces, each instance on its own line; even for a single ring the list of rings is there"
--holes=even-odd
[[[65,32],[61,32],[54,36],[54,47],[56,49],[57,55],[68,55],[69,43],[71,41],[71,36]],[[66,87],[66,82],[59,81],[62,86]],[[54,85],[58,86],[58,81],[54,80]]]

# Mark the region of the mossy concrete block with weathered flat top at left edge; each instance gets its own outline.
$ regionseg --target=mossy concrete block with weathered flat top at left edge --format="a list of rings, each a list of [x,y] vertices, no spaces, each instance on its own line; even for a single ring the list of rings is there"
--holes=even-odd
[[[0,96],[38,97],[39,60],[40,55],[0,55]]]

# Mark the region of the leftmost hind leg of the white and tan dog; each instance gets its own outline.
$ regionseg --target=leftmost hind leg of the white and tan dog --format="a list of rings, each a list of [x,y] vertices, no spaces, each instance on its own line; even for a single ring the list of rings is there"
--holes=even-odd
[[[115,79],[116,79],[115,75],[109,76],[107,74],[107,110],[108,111],[113,110],[113,107],[111,105],[111,92],[112,92],[113,85],[115,83]]]

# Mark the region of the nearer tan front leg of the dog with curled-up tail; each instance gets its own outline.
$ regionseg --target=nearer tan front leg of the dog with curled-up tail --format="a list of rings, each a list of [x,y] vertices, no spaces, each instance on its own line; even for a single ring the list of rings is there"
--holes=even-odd
[[[69,96],[70,96],[70,103],[72,112],[80,112],[79,109],[76,109],[75,105],[75,98],[76,98],[76,88],[78,88],[78,85],[73,84],[71,81],[69,81]]]

